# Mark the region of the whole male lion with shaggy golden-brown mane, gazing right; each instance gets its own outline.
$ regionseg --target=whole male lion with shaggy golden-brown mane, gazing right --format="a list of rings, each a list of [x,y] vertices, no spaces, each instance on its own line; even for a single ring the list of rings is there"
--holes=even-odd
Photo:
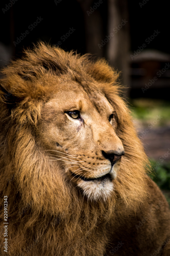
[[[170,255],[169,206],[118,77],[43,42],[2,70],[1,255]]]

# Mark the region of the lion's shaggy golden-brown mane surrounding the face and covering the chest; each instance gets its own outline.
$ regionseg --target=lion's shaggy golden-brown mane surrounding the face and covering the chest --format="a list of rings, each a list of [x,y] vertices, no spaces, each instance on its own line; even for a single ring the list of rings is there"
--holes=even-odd
[[[2,205],[8,196],[8,255],[103,255],[115,218],[135,212],[147,197],[148,160],[120,97],[118,74],[103,59],[94,62],[42,42],[24,53],[3,69],[0,88],[0,188]],[[78,81],[86,90],[87,76],[101,84],[114,106],[126,152],[107,202],[87,201],[62,177],[56,161],[46,160],[36,137],[42,106],[60,79]],[[3,221],[3,208],[0,216]]]

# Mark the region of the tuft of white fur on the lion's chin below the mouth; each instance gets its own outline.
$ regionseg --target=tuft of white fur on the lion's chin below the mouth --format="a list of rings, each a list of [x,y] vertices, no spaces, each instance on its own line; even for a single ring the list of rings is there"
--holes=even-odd
[[[91,201],[106,201],[112,194],[114,185],[110,179],[102,181],[84,181],[80,180],[77,184],[83,190],[84,196]]]

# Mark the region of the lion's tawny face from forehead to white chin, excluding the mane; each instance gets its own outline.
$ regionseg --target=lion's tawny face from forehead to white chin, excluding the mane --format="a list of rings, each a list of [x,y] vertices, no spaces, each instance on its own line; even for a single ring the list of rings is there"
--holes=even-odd
[[[114,189],[124,148],[116,135],[116,113],[100,83],[79,82],[68,71],[42,108],[37,137],[49,161],[57,161],[83,195],[104,199]],[[80,78],[79,78],[80,79]],[[50,84],[55,87],[55,81]]]

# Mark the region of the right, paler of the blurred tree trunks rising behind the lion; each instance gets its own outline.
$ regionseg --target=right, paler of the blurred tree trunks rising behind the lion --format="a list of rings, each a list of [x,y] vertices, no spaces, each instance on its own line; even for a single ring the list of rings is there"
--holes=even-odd
[[[120,28],[122,20],[126,20],[127,23]],[[117,33],[116,29],[113,31],[116,27],[120,28]],[[130,36],[127,0],[108,0],[108,35],[110,33],[114,33],[114,36],[108,41],[107,59],[113,67],[122,71],[121,83],[129,87]],[[124,94],[128,96],[128,89],[124,90]]]

